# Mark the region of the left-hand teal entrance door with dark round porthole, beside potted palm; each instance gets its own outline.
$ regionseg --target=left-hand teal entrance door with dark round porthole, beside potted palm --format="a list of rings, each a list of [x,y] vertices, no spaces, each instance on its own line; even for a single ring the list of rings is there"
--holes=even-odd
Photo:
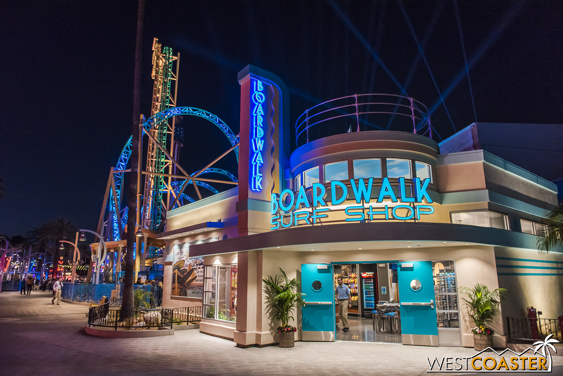
[[[303,341],[334,341],[334,286],[332,265],[301,265]]]

